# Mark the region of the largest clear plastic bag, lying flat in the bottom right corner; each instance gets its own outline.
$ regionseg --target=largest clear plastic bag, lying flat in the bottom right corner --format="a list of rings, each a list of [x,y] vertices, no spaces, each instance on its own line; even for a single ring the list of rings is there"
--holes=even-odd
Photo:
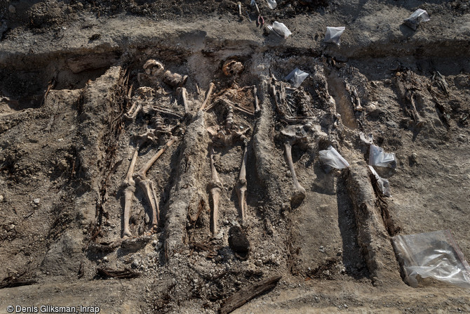
[[[470,288],[470,267],[450,230],[396,235],[391,238],[405,275],[404,281],[417,287],[417,275]]]

